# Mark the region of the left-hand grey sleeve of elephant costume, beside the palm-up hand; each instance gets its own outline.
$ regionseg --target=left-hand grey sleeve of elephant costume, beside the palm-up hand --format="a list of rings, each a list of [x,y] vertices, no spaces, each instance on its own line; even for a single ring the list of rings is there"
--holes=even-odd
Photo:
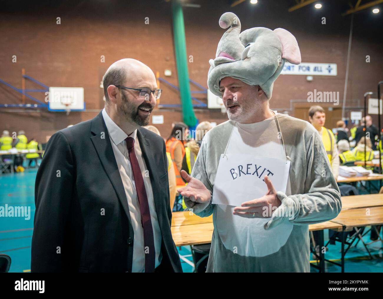
[[[207,135],[206,135],[207,136]],[[208,217],[213,213],[214,205],[211,203],[213,199],[213,185],[208,179],[208,174],[206,172],[206,141],[208,138],[203,139],[200,151],[198,152],[193,170],[191,171],[191,177],[194,177],[200,180],[205,187],[210,191],[211,198],[208,203],[195,203],[187,197],[183,197],[185,205],[189,209],[193,209],[193,213],[200,217]]]

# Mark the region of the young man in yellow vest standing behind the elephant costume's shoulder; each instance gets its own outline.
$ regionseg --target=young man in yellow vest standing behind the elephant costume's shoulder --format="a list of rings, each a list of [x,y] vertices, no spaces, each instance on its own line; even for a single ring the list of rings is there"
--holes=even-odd
[[[324,127],[326,122],[326,113],[321,106],[312,106],[309,109],[309,120],[311,124],[316,128],[319,136],[322,138],[324,149],[326,150],[327,157],[330,160],[332,174],[335,180],[339,175],[339,154],[338,148],[335,142],[335,136],[331,130]]]

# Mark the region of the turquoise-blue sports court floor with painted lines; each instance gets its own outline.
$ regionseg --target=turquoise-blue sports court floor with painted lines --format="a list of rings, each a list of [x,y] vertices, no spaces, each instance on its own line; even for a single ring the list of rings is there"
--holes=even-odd
[[[0,175],[0,206],[30,207],[28,217],[0,217],[0,253],[10,255],[12,263],[10,272],[29,272],[31,264],[31,239],[34,218],[34,180],[37,169],[26,169],[25,172]],[[26,215],[24,215],[26,216]],[[27,218],[27,219],[25,219]],[[381,233],[382,234],[382,233]],[[325,243],[328,230],[324,232]],[[370,242],[367,234],[365,242]],[[368,245],[374,259],[370,260],[363,244],[358,242],[346,254],[345,272],[383,272],[383,247],[381,242]],[[194,270],[190,246],[178,248],[184,272]],[[340,243],[328,245],[326,258],[340,263]],[[312,261],[314,263],[314,261]],[[316,269],[311,268],[312,272]],[[327,272],[340,272],[340,267],[326,263]]]

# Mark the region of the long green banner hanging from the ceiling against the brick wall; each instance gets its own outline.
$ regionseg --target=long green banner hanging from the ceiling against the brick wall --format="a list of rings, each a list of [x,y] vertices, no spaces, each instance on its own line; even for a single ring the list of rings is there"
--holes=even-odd
[[[193,104],[191,103],[185,25],[183,23],[182,5],[177,0],[173,0],[173,36],[183,122],[189,127],[194,127],[197,119],[194,115]]]

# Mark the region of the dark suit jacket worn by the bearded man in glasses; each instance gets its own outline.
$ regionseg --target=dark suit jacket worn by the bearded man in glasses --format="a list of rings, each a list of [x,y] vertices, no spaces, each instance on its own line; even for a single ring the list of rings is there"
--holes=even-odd
[[[137,138],[162,234],[156,270],[182,272],[170,231],[164,140],[142,127]],[[36,176],[35,204],[32,272],[131,272],[134,232],[101,112],[49,139]]]

